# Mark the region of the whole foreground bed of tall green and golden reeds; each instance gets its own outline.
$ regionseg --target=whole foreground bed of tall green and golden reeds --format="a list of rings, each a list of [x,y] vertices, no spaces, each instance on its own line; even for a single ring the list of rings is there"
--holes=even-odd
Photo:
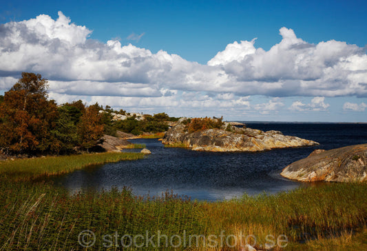
[[[168,250],[240,250],[253,238],[258,249],[273,240],[272,250],[363,250],[366,194],[366,184],[335,183],[209,203],[171,193],[138,198],[127,188],[70,196],[48,184],[3,181],[0,249],[86,250],[80,242],[93,239],[81,239],[80,233],[90,230],[96,241],[87,250],[119,250],[129,243],[136,250],[162,250],[166,245]],[[280,234],[289,240],[285,248],[277,245]],[[134,244],[129,237],[138,239]],[[198,243],[190,237],[198,237]]]

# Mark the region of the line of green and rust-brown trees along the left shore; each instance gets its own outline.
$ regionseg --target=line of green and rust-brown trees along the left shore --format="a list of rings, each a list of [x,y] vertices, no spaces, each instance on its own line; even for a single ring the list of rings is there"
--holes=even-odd
[[[98,103],[73,101],[60,106],[48,99],[48,81],[41,74],[23,72],[21,79],[0,96],[0,149],[4,154],[69,154],[88,151],[103,134],[116,130],[139,134],[167,130],[167,114],[112,121],[113,111],[99,112]]]

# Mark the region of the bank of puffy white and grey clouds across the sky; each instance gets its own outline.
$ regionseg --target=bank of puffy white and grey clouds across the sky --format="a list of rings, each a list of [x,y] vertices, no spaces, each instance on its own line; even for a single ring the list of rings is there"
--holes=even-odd
[[[328,108],[323,97],[367,97],[366,48],[335,40],[307,43],[288,28],[280,29],[282,40],[268,51],[255,48],[255,39],[235,41],[206,65],[117,40],[101,43],[89,39],[91,33],[62,12],[56,20],[41,14],[1,24],[0,89],[10,88],[20,72],[36,72],[50,80],[52,97],[61,100],[99,97],[122,106],[136,99],[136,106],[246,110],[246,97],[266,95],[268,103],[252,106],[264,114],[282,107],[279,97],[315,97],[311,104],[291,106],[315,111]],[[189,101],[185,95],[191,95]]]

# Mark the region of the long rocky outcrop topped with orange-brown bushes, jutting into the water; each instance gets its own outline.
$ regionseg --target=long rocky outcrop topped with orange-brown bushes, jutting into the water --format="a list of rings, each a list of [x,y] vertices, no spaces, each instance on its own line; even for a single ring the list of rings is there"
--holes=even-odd
[[[238,128],[215,118],[181,118],[165,133],[162,143],[210,152],[258,152],[319,144],[307,139],[286,136],[279,131],[264,132],[246,126]]]

